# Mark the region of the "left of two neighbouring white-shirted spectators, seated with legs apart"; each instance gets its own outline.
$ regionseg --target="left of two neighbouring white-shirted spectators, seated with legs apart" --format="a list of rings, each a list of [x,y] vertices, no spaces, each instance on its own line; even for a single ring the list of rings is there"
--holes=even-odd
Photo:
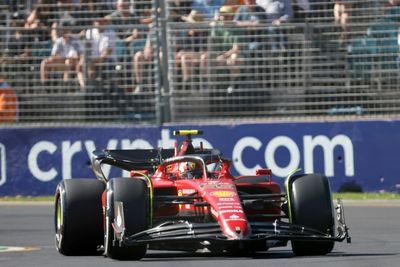
[[[71,71],[76,72],[81,88],[85,87],[83,78],[83,53],[80,43],[71,35],[71,24],[65,22],[61,28],[61,37],[54,42],[51,56],[40,64],[40,80],[45,83],[51,71],[64,72],[63,80],[69,80]]]

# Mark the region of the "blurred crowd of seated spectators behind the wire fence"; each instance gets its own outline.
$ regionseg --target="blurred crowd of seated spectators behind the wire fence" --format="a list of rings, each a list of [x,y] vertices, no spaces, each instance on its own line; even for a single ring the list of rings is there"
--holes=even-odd
[[[213,64],[229,72],[227,91],[232,92],[243,59],[257,58],[265,50],[285,53],[288,41],[282,25],[313,18],[330,21],[340,29],[338,44],[349,45],[349,25],[354,17],[362,17],[355,11],[371,4],[352,0],[4,1],[0,23],[6,30],[0,33],[0,63],[2,72],[14,77],[3,78],[13,79],[17,86],[22,78],[30,81],[32,86],[24,90],[52,88],[57,81],[73,83],[82,92],[98,84],[113,90],[124,79],[123,93],[132,94],[148,90],[144,79],[154,62],[163,66],[163,51],[156,45],[162,38],[158,19],[162,10],[169,23],[186,25],[167,40],[174,42],[169,44],[174,50],[170,58],[183,84],[191,80],[194,68],[207,75],[212,57]],[[378,2],[390,13],[400,1]],[[391,13],[394,21],[398,10]]]

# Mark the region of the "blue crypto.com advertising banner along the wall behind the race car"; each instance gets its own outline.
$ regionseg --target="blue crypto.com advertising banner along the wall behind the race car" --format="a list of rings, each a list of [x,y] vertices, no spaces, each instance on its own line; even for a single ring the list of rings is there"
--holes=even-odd
[[[182,139],[172,131],[188,128],[203,130],[194,142],[221,150],[236,175],[268,167],[282,184],[301,168],[328,176],[333,191],[353,181],[364,191],[400,190],[400,121],[358,121],[0,128],[0,196],[52,195],[61,179],[94,178],[90,159],[96,149],[171,148]]]

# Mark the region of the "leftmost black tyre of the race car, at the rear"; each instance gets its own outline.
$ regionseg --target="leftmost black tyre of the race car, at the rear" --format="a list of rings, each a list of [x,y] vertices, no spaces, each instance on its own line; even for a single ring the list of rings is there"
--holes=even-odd
[[[64,255],[95,255],[103,244],[101,195],[105,185],[95,179],[61,181],[55,194],[55,246]]]

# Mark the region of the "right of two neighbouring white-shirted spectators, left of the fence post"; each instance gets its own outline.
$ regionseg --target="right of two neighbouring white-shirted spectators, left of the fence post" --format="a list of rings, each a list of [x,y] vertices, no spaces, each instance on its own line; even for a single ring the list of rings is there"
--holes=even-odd
[[[93,28],[86,31],[86,39],[91,41],[91,59],[89,60],[90,79],[111,79],[116,66],[116,34],[108,27],[106,17],[98,18]]]

